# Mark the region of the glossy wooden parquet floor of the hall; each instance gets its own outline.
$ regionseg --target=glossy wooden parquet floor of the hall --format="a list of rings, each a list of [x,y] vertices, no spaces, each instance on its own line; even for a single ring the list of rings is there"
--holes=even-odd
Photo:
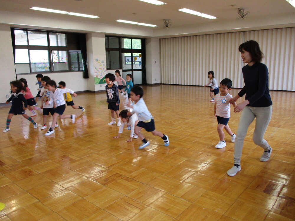
[[[126,142],[127,129],[113,139],[119,127],[107,125],[105,93],[78,94],[74,103],[86,112],[67,107],[76,123],[59,119],[46,137],[41,114],[34,117],[38,129],[14,116],[11,130],[2,133],[10,106],[1,106],[0,202],[6,207],[0,220],[295,220],[294,92],[271,91],[273,115],[265,134],[271,159],[259,161],[263,150],[252,141],[253,122],[242,170],[229,177],[234,144],[226,134],[227,146],[215,148],[219,138],[209,88],[143,88],[156,129],[169,136],[168,147],[144,130],[151,144],[142,150],[139,139]],[[240,113],[231,110],[235,133]]]

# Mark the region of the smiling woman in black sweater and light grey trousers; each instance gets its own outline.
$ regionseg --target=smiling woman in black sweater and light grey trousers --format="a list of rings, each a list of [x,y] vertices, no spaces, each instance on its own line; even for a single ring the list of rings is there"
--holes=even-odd
[[[272,113],[271,96],[268,90],[268,69],[265,64],[260,63],[264,56],[259,44],[253,40],[241,44],[239,51],[243,62],[248,65],[242,68],[245,86],[230,99],[230,102],[237,101],[246,94],[245,101],[234,108],[234,112],[242,111],[242,113],[235,139],[234,166],[227,171],[227,175],[231,177],[241,170],[240,161],[244,139],[249,125],[255,118],[253,141],[264,149],[260,161],[268,161],[272,151],[267,141],[263,139]]]

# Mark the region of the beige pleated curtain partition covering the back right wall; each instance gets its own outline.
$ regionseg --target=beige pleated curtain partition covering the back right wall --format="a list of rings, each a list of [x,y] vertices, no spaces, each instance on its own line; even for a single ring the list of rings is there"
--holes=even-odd
[[[217,82],[228,77],[234,88],[242,88],[238,47],[250,39],[265,55],[269,88],[295,91],[295,27],[160,39],[161,83],[205,85],[213,70]]]

